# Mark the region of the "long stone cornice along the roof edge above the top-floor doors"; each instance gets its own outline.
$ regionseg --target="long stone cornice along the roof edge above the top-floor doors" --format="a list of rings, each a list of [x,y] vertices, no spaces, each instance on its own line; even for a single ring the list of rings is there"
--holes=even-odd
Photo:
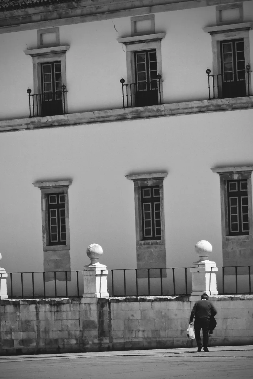
[[[244,0],[250,1],[250,0]],[[0,33],[198,8],[238,0],[80,0],[25,9],[0,8]],[[39,20],[39,21],[38,21]]]

